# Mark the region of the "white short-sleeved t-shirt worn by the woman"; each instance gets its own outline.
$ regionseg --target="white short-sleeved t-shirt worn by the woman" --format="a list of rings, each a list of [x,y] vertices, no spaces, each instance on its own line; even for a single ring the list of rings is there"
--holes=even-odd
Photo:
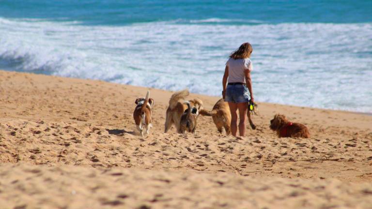
[[[244,70],[253,70],[252,61],[249,58],[234,60],[230,58],[227,60],[226,65],[229,67],[229,83],[246,83],[244,77]]]

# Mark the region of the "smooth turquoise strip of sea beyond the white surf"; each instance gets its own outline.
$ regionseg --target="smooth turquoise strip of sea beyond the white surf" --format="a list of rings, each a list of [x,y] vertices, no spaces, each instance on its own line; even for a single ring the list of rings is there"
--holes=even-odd
[[[371,0],[1,0],[1,16],[90,25],[209,18],[261,23],[364,23],[372,21]],[[246,21],[246,22],[245,22]]]

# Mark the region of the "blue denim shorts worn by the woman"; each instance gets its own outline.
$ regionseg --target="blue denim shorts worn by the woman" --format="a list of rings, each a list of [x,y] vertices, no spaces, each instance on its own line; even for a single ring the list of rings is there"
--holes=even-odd
[[[245,85],[227,85],[225,102],[249,102],[249,91]]]

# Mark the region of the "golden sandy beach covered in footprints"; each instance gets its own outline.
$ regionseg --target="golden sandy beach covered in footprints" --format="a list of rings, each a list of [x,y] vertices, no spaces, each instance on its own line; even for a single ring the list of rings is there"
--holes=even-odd
[[[0,209],[372,209],[372,116],[256,98],[257,129],[243,139],[203,116],[196,134],[164,134],[173,92],[150,89],[143,138],[132,115],[147,90],[0,71]],[[188,98],[208,110],[219,99]],[[311,137],[278,138],[276,113]]]

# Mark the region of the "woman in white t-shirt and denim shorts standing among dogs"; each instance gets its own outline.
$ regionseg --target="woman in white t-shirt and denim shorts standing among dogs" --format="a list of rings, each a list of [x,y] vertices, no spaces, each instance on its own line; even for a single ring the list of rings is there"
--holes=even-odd
[[[244,136],[246,132],[246,119],[248,111],[249,95],[252,102],[253,91],[250,72],[252,71],[252,61],[249,59],[253,48],[249,43],[242,44],[231,55],[226,62],[225,74],[222,79],[222,97],[229,103],[231,111],[231,132],[236,136],[236,122],[239,110],[239,134]],[[227,81],[229,81],[227,83]],[[227,86],[226,86],[227,84]]]

